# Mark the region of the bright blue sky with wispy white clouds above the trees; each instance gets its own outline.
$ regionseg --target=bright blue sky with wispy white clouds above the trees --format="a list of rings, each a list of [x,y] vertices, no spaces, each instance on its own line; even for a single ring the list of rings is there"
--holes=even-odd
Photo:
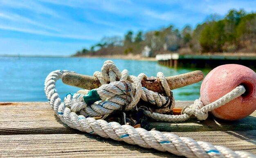
[[[0,55],[72,55],[103,36],[195,27],[255,0],[0,0]]]

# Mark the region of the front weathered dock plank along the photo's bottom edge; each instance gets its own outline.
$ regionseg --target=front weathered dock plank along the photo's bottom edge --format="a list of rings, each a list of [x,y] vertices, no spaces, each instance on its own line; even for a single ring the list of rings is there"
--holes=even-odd
[[[256,154],[256,131],[240,132],[175,132],[197,141],[224,145],[233,150]],[[1,157],[21,156],[92,156],[92,157],[176,157],[167,152],[145,149],[90,134],[34,134],[0,136]]]

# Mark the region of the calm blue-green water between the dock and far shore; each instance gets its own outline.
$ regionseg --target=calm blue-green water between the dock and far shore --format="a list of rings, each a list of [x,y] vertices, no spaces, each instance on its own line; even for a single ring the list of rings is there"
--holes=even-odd
[[[47,101],[44,92],[45,77],[54,70],[71,70],[84,75],[100,71],[107,59],[61,58],[61,57],[0,57],[0,102],[5,101]],[[156,61],[112,59],[120,70],[127,69],[129,75],[144,72],[148,77],[161,71],[164,75],[178,75],[195,69],[167,68]],[[206,75],[210,70],[202,70]],[[173,90],[175,100],[195,100],[200,96],[200,85]],[[68,92],[80,90],[57,81],[56,89],[63,99]]]

